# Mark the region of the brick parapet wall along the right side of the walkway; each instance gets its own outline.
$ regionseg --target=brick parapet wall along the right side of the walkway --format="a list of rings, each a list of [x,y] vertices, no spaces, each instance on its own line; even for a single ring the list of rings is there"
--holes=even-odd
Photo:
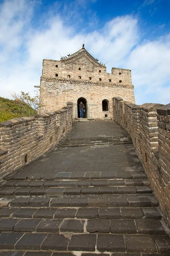
[[[130,134],[170,225],[170,104],[138,106],[115,97],[113,114],[115,121]]]

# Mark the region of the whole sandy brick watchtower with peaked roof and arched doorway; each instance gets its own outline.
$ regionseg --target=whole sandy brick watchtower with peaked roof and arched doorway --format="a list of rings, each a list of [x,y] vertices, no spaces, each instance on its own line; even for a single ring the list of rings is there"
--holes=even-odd
[[[106,72],[84,47],[61,58],[43,60],[40,102],[48,111],[56,111],[73,102],[73,118],[79,117],[77,105],[85,105],[85,117],[113,119],[113,97],[135,103],[131,70],[113,67]]]

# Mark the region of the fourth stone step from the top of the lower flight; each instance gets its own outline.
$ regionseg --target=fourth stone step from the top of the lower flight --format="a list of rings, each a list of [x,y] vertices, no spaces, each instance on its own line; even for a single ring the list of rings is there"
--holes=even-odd
[[[139,194],[140,196],[124,195],[123,197],[113,197],[113,195],[85,195],[78,198],[70,196],[68,198],[58,197],[18,197],[8,199],[9,207],[158,207],[159,202],[153,194]],[[0,202],[1,203],[1,202]]]

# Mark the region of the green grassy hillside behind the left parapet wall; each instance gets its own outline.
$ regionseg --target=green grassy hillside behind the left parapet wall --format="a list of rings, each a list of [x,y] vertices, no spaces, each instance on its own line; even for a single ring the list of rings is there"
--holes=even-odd
[[[36,110],[21,100],[0,97],[0,122],[16,117],[34,116],[36,113]]]

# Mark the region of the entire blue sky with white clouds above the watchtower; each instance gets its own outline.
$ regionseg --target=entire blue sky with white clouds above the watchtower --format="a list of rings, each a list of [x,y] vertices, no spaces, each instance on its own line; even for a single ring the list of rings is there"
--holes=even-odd
[[[0,96],[34,95],[42,60],[85,47],[132,70],[136,104],[170,102],[170,0],[0,0]]]

